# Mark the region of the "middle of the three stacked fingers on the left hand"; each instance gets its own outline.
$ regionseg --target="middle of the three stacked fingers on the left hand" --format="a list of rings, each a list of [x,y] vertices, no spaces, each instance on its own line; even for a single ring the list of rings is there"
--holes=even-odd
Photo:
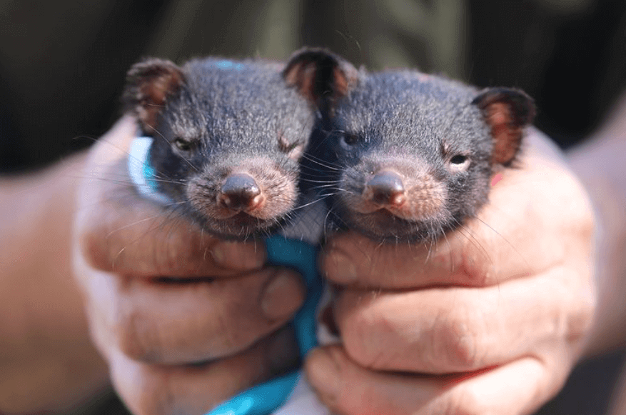
[[[301,306],[301,277],[268,268],[228,280],[187,284],[120,278],[77,261],[92,326],[136,360],[180,364],[246,349],[286,324]],[[242,294],[245,293],[245,294]],[[106,349],[106,347],[104,348]]]

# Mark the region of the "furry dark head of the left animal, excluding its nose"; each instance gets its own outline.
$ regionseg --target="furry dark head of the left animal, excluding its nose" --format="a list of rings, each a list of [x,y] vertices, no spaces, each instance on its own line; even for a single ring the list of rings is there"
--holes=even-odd
[[[315,111],[286,84],[281,69],[267,61],[209,58],[181,68],[149,59],[129,71],[125,105],[143,134],[154,138],[150,161],[158,191],[212,234],[265,234],[298,204],[299,154]],[[152,118],[145,116],[151,111]],[[238,171],[262,182],[267,203],[259,216],[223,217],[217,194],[228,174]]]

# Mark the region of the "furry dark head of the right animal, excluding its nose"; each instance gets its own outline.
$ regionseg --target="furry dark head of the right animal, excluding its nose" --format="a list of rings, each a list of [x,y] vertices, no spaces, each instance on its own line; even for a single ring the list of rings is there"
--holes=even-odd
[[[324,134],[311,146],[311,159],[320,163],[304,172],[314,181],[319,176],[314,169],[324,171],[321,187],[335,226],[381,240],[432,241],[475,216],[488,200],[496,164],[512,160],[495,160],[495,146],[515,156],[534,115],[532,100],[521,91],[479,93],[458,81],[408,70],[370,74],[361,69],[347,94],[330,106],[333,115],[321,128]],[[490,114],[502,108],[505,122],[493,125],[503,117]],[[406,193],[415,205],[413,217],[393,209],[355,209],[365,182],[380,169],[399,172],[405,186],[414,189]]]

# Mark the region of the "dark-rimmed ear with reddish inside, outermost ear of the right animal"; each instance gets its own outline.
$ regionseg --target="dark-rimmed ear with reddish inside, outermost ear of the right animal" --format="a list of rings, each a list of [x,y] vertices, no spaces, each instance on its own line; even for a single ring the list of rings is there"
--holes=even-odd
[[[510,164],[518,154],[524,127],[535,118],[535,102],[524,91],[490,88],[481,92],[472,104],[483,111],[495,141],[492,161]]]

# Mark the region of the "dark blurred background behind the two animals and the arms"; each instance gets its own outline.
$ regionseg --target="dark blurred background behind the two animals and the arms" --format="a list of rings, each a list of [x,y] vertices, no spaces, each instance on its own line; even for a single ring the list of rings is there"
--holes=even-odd
[[[626,89],[623,0],[0,0],[0,174],[91,145],[120,116],[126,71],[142,56],[283,60],[304,45],[370,70],[524,89],[535,124],[564,148]],[[580,366],[540,414],[604,413],[621,361]],[[123,413],[113,395],[90,406]]]

